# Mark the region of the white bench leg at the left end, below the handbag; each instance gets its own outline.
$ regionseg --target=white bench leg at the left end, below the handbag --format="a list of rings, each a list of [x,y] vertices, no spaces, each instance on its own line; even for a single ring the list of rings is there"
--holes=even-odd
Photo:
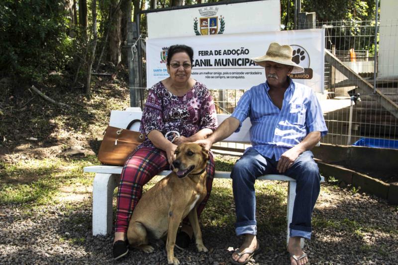
[[[117,175],[97,173],[93,182],[93,235],[112,231],[112,195]]]

